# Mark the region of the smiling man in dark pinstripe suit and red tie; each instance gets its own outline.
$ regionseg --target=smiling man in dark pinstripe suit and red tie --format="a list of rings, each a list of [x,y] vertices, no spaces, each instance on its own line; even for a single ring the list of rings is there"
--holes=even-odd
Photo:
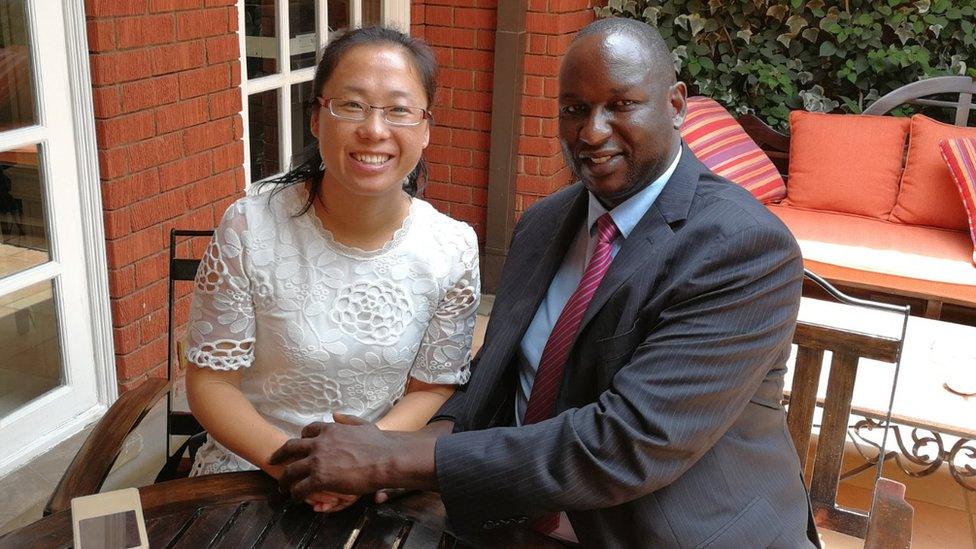
[[[682,145],[685,95],[655,30],[583,29],[559,96],[580,182],[515,228],[470,382],[418,433],[309,426],[282,485],[439,490],[462,535],[565,511],[587,546],[816,544],[780,406],[799,250]]]

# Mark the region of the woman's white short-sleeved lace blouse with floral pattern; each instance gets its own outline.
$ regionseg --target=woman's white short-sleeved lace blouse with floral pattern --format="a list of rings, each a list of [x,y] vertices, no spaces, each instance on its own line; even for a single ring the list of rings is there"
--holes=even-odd
[[[414,198],[381,249],[335,241],[302,185],[245,197],[224,214],[197,272],[187,358],[243,368],[241,390],[289,436],[337,411],[375,421],[408,377],[461,384],[480,298],[468,225]],[[254,469],[213,439],[192,475]]]

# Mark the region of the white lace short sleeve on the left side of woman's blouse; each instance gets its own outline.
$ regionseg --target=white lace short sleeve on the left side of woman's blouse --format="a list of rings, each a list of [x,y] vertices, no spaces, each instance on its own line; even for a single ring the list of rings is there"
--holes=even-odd
[[[244,205],[224,213],[194,280],[186,358],[199,367],[237,370],[254,360],[254,303],[244,269]]]

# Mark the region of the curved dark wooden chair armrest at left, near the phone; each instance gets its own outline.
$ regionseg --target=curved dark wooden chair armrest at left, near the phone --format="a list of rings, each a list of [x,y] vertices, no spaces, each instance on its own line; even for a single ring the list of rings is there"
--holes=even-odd
[[[68,509],[72,498],[99,491],[122,451],[125,438],[169,388],[170,382],[165,379],[149,379],[123,393],[112,404],[71,460],[44,507],[45,515]]]

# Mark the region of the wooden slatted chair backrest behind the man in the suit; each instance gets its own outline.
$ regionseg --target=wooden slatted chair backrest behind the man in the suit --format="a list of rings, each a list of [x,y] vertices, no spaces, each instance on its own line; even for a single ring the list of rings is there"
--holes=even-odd
[[[851,304],[869,303],[844,296],[812,273],[807,277],[824,284],[828,292],[839,295]],[[895,306],[878,304],[882,308]],[[810,501],[817,526],[865,538],[868,532],[868,513],[849,509],[837,504],[837,487],[840,483],[844,457],[844,441],[847,437],[854,381],[861,358],[892,364],[898,363],[904,343],[903,337],[870,335],[839,328],[798,322],[793,336],[797,345],[793,384],[790,389],[787,425],[800,458],[801,469],[806,470],[807,452],[810,448],[814,408],[820,384],[824,353],[830,351],[827,390],[823,398],[823,418],[812,471],[807,478]]]

